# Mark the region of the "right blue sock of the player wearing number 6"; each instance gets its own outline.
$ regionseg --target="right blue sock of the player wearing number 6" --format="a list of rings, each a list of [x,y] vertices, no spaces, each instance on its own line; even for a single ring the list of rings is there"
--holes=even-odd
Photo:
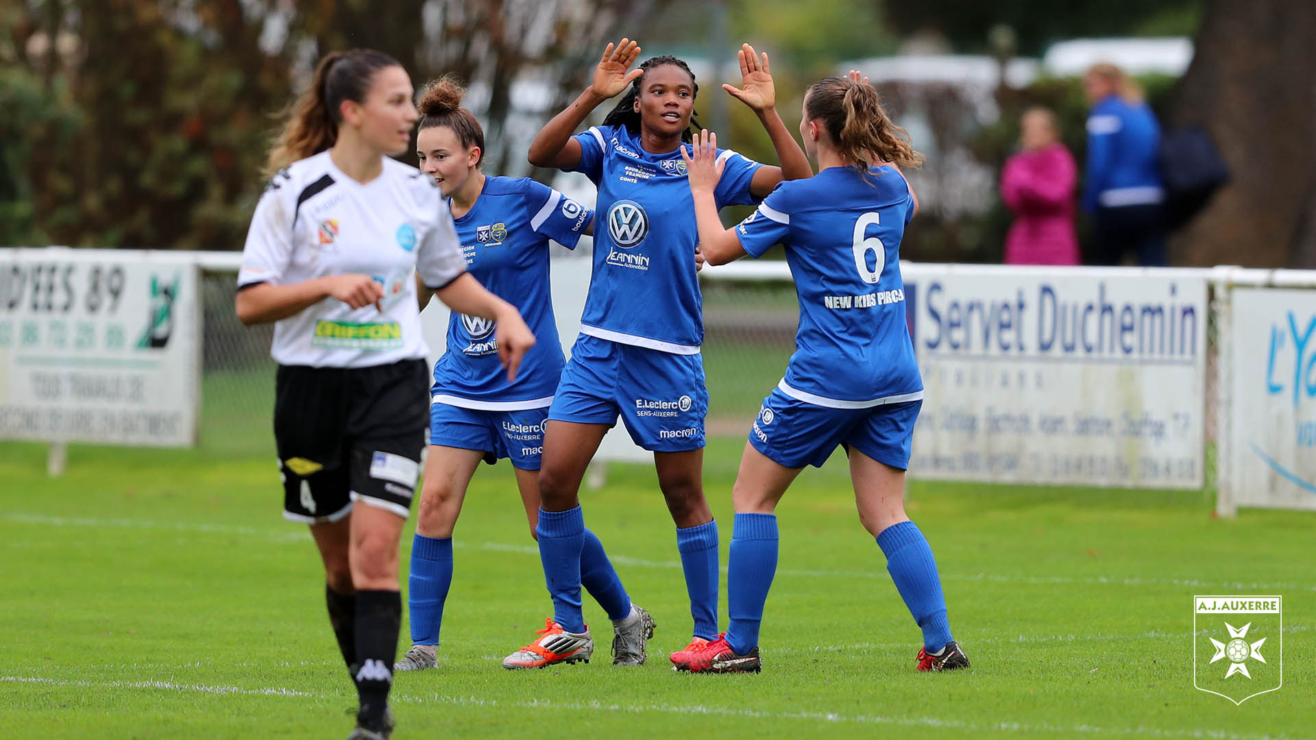
[[[892,524],[878,533],[878,546],[887,556],[887,571],[900,591],[913,620],[923,629],[924,648],[940,650],[951,640],[946,598],[941,593],[937,560],[913,521]]]

